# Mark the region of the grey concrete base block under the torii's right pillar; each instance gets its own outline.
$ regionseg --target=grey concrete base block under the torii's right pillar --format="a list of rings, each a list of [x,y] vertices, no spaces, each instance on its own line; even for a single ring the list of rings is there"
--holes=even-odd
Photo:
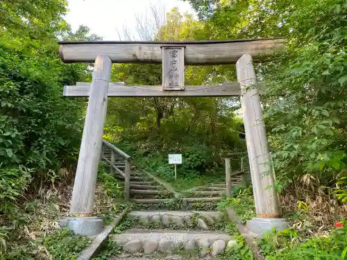
[[[262,236],[265,233],[272,232],[273,228],[277,231],[289,228],[285,218],[253,218],[246,223],[248,230],[253,236]]]

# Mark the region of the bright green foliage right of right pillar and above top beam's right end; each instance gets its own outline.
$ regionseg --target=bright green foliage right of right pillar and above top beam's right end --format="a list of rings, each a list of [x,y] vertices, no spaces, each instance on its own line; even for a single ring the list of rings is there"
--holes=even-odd
[[[345,1],[189,2],[203,18],[196,39],[285,38],[286,48],[256,67],[276,189],[307,173],[330,186],[347,162]]]

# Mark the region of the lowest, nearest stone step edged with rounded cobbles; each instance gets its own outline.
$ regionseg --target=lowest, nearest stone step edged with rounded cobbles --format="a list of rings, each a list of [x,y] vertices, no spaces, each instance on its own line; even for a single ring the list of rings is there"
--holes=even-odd
[[[130,229],[122,234],[112,236],[115,246],[121,246],[130,254],[144,252],[149,255],[155,252],[174,254],[178,250],[196,252],[201,256],[211,254],[212,257],[223,253],[237,243],[232,236],[222,232],[210,231],[178,231],[178,230],[149,230]]]

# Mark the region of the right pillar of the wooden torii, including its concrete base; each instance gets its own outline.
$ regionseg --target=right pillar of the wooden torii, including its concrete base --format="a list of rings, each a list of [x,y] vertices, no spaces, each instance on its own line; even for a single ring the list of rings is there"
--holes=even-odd
[[[246,226],[254,236],[261,236],[271,232],[273,227],[286,229],[288,224],[282,218],[280,201],[274,188],[269,145],[251,55],[242,55],[237,60],[236,70],[241,86],[241,105],[257,214],[256,218],[247,221]]]

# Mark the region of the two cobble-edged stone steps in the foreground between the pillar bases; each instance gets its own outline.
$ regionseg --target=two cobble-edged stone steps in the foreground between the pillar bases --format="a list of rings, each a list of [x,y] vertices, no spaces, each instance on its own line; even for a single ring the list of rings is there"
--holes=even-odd
[[[217,230],[222,218],[218,211],[130,212],[124,220],[129,229],[112,235],[123,252],[117,259],[214,259],[237,245]]]

